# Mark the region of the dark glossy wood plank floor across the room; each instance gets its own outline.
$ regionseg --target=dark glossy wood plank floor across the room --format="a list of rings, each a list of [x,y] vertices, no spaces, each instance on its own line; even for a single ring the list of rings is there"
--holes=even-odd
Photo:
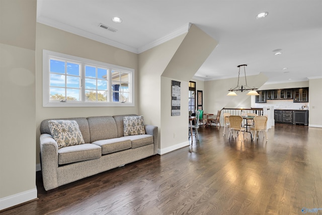
[[[192,147],[48,192],[37,172],[39,200],[0,214],[322,214],[322,128],[276,124],[267,143],[199,134]]]

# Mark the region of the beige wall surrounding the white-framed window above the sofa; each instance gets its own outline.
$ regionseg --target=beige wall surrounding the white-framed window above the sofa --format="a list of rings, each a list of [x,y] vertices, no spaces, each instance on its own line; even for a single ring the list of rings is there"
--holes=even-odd
[[[112,116],[119,114],[138,114],[138,84],[135,85],[134,107],[42,107],[42,50],[50,50],[115,65],[135,69],[135,82],[138,82],[138,55],[119,48],[105,45],[85,37],[77,36],[56,28],[37,23],[36,41],[36,131],[39,155],[39,126],[48,118]],[[37,156],[37,163],[40,163]]]

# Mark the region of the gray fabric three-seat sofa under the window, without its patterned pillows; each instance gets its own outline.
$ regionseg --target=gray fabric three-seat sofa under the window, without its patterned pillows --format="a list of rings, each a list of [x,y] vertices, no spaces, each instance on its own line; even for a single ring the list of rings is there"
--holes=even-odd
[[[145,133],[124,136],[124,116],[64,118],[75,120],[85,144],[58,149],[46,119],[40,125],[40,158],[45,190],[155,155],[158,128],[144,125]]]

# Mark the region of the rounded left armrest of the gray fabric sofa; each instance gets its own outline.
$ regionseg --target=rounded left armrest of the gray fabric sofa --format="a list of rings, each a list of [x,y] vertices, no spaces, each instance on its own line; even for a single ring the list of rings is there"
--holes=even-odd
[[[45,190],[58,187],[58,145],[48,133],[40,135],[40,159]]]

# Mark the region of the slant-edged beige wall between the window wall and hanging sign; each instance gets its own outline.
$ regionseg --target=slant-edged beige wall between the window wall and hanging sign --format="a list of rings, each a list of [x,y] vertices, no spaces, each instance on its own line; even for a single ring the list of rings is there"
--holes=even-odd
[[[180,35],[168,42],[160,44],[139,54],[139,113],[144,115],[144,121],[158,127],[159,143],[162,141],[161,110],[164,93],[161,75],[172,56],[178,49],[186,34]],[[171,86],[169,86],[169,89]]]

